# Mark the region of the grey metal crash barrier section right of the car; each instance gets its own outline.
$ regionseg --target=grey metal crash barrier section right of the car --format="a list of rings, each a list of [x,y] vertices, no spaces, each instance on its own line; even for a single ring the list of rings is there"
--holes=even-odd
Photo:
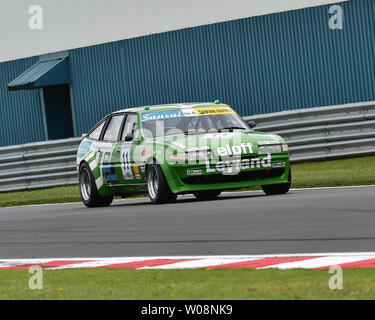
[[[245,117],[282,136],[292,162],[375,154],[375,102]]]

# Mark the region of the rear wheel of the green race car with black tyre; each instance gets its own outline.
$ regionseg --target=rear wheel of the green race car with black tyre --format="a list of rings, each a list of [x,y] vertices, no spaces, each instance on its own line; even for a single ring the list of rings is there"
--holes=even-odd
[[[95,179],[89,165],[84,162],[79,168],[79,191],[86,207],[107,207],[113,201],[113,196],[101,197],[96,188]]]

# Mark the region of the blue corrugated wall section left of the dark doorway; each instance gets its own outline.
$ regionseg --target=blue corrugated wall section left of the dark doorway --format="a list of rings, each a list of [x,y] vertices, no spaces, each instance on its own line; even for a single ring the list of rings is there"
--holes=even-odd
[[[36,62],[36,58],[0,63],[0,146],[44,140],[37,90],[9,92],[7,83]]]

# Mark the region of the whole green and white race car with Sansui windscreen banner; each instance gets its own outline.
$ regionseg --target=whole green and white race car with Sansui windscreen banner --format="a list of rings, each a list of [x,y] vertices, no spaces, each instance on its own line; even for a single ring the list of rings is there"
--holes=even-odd
[[[284,139],[254,131],[219,101],[111,113],[83,138],[77,168],[87,207],[146,191],[153,203],[166,203],[250,186],[283,194],[291,184]]]

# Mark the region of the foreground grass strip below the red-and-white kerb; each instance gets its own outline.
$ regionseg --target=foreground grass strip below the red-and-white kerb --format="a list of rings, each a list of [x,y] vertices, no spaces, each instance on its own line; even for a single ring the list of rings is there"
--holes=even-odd
[[[328,270],[44,270],[31,290],[27,269],[0,271],[0,299],[375,299],[375,269],[344,269],[331,290]]]

